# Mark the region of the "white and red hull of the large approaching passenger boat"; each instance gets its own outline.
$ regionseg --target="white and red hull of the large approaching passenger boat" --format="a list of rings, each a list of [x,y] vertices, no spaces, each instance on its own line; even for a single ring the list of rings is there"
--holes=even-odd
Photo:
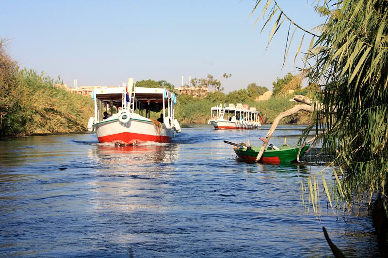
[[[150,120],[131,119],[127,123],[122,123],[118,119],[113,119],[97,123],[95,128],[100,143],[135,145],[147,141],[170,142],[174,136],[173,129],[167,129],[163,123],[161,125],[159,130]]]

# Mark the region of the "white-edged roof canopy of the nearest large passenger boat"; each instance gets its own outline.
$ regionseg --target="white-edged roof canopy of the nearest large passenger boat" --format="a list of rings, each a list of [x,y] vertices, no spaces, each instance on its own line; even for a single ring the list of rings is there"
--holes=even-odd
[[[95,92],[96,98],[106,104],[110,104],[116,107],[122,106],[123,103],[123,87],[98,89]],[[133,93],[132,93],[133,96]],[[154,112],[160,112],[164,106],[168,106],[168,101],[177,102],[177,96],[175,93],[167,91],[162,88],[144,88],[135,87],[135,100],[137,103],[134,105],[134,109],[137,106],[141,106],[144,109],[148,109]]]

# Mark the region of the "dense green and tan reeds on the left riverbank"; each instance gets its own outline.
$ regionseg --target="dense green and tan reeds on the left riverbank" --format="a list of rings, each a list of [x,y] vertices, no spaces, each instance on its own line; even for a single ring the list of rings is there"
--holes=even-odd
[[[62,85],[59,78],[19,69],[0,40],[0,136],[85,131],[93,101]]]

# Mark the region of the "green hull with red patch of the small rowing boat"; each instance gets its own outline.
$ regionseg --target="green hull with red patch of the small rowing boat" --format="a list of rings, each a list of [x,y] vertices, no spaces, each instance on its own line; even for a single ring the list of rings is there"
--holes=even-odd
[[[244,150],[241,148],[234,148],[234,152],[236,152],[239,159],[248,162],[255,162],[256,157],[260,152],[261,147],[252,147],[250,150]],[[299,157],[307,151],[309,145],[306,145],[302,148]],[[260,159],[261,163],[265,164],[280,164],[280,163],[291,163],[296,162],[297,155],[299,152],[299,147],[290,148],[289,146],[282,146],[280,150],[274,150],[271,147],[265,148],[263,156]]]

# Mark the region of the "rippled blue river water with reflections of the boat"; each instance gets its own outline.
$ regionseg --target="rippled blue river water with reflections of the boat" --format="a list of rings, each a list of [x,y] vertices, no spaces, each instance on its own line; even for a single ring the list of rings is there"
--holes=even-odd
[[[271,141],[295,144],[302,128]],[[127,147],[95,134],[0,141],[0,257],[325,257],[323,226],[346,256],[378,256],[364,209],[334,213],[323,187],[318,218],[302,205],[301,180],[323,166],[246,164],[223,143],[259,145],[268,129],[192,125]]]

